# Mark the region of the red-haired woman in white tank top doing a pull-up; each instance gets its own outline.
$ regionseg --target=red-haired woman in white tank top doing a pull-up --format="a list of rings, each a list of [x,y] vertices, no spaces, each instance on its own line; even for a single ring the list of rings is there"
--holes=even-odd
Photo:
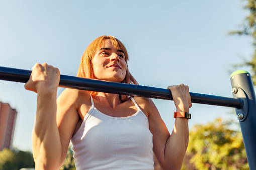
[[[112,36],[94,40],[84,52],[77,76],[137,84],[127,67],[128,54]],[[188,146],[188,119],[175,120],[172,135],[149,98],[65,89],[56,102],[59,70],[36,64],[25,84],[37,93],[32,133],[36,169],[59,169],[70,139],[76,169],[180,169]],[[169,86],[176,111],[189,112],[189,88]]]

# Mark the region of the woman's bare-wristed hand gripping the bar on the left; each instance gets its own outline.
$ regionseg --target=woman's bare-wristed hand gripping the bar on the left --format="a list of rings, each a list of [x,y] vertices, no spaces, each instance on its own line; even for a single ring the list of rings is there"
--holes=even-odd
[[[59,69],[53,66],[43,64],[35,64],[29,81],[25,84],[25,89],[40,92],[56,92],[60,80]]]

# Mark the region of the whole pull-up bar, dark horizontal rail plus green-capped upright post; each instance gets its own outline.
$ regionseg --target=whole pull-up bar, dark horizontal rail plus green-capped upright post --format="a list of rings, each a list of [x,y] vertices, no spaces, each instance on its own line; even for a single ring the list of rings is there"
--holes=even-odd
[[[30,75],[31,71],[29,70],[0,67],[0,80],[26,83]],[[240,122],[249,168],[256,170],[256,98],[252,80],[249,73],[243,70],[232,73],[230,80],[234,98],[190,92],[191,101],[235,108]],[[60,75],[59,87],[173,100],[172,93],[167,89],[66,75]]]

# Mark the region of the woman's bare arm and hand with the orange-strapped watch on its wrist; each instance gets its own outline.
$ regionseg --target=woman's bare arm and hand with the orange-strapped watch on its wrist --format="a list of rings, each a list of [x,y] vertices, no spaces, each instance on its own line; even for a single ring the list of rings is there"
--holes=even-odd
[[[169,86],[176,111],[189,112],[192,106],[188,86]],[[172,134],[168,132],[157,108],[149,104],[149,129],[153,134],[153,151],[162,169],[181,169],[189,142],[188,119],[176,118]],[[173,114],[173,112],[172,112]]]

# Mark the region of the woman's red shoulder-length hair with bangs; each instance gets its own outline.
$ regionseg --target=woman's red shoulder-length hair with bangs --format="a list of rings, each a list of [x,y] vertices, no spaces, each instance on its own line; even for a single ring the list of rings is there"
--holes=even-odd
[[[125,46],[121,43],[121,41],[119,41],[117,38],[112,37],[112,36],[101,36],[101,37],[98,37],[97,39],[95,39],[87,47],[86,51],[84,51],[82,58],[81,58],[79,68],[78,68],[78,72],[76,75],[77,77],[95,79],[92,60],[93,60],[94,56],[96,55],[97,51],[102,47],[102,43],[106,39],[110,39],[115,48],[120,48],[120,50],[124,51],[125,62],[127,63],[129,56],[128,56]],[[121,81],[121,83],[138,85],[138,82],[135,80],[135,78],[129,72],[128,65],[127,65],[125,78],[123,81]],[[88,92],[91,95],[96,94],[96,92],[93,92],[93,91],[88,91]],[[128,99],[128,96],[127,95],[119,95],[119,98],[121,101],[124,102]]]

